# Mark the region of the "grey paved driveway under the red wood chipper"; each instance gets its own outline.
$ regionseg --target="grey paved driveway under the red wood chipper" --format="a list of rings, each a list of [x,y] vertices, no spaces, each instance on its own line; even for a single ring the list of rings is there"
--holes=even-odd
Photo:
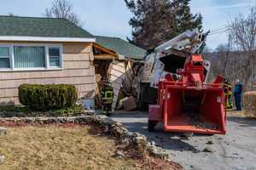
[[[131,132],[143,133],[166,150],[173,161],[188,170],[256,170],[256,120],[228,116],[226,135],[165,133],[161,126],[148,133],[147,113],[118,111],[112,119],[122,122]],[[212,152],[202,151],[209,148]]]

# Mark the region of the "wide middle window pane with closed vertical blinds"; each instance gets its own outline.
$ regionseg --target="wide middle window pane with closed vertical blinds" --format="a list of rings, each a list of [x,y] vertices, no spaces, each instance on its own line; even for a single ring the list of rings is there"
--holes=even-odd
[[[15,47],[15,68],[45,67],[44,47]]]

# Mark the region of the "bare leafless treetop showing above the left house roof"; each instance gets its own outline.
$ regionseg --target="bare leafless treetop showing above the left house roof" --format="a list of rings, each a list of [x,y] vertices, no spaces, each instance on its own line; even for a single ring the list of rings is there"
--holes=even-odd
[[[49,8],[45,8],[44,15],[49,18],[63,18],[70,20],[77,26],[83,27],[79,16],[73,12],[73,5],[68,0],[53,0]]]

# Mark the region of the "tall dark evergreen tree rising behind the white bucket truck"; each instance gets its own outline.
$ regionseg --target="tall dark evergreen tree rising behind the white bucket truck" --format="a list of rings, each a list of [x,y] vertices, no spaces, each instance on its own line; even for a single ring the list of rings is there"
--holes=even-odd
[[[125,0],[134,16],[130,42],[145,49],[157,47],[186,30],[201,29],[201,14],[191,14],[190,0]]]

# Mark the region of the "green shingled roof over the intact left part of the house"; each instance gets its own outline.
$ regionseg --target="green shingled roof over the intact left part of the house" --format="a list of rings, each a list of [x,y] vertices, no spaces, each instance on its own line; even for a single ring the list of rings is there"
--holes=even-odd
[[[93,37],[66,19],[0,16],[0,36]]]

